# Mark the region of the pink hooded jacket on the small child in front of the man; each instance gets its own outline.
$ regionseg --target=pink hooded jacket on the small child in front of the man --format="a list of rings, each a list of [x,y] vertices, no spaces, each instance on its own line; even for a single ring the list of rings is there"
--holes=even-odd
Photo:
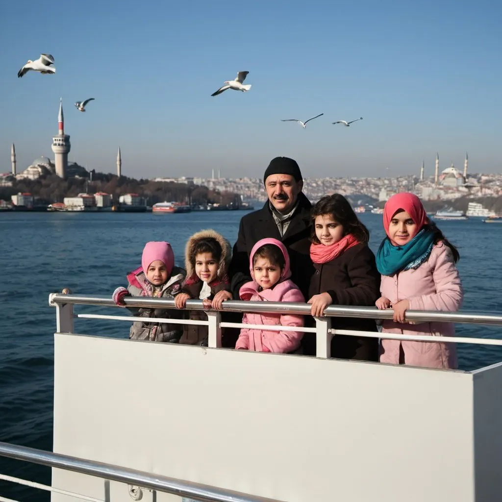
[[[239,290],[241,300],[253,302],[305,302],[305,298],[289,277],[291,270],[289,265],[289,255],[284,244],[273,238],[259,240],[253,247],[249,269],[251,277],[255,278],[253,271],[253,257],[257,249],[265,244],[274,244],[278,246],[285,259],[284,270],[281,274],[280,282],[273,288],[258,291],[260,286],[255,281],[244,284]],[[268,324],[282,326],[303,326],[303,316],[293,314],[265,314],[265,313],[245,313],[242,322],[245,324]],[[265,329],[242,328],[239,338],[235,344],[236,349],[255,350],[257,352],[293,352],[300,346],[303,337],[301,331],[267,331]]]

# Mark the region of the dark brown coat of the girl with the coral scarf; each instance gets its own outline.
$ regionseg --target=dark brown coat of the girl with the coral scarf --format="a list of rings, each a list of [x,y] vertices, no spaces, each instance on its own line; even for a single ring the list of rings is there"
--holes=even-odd
[[[309,298],[329,293],[333,305],[371,306],[380,298],[380,274],[375,257],[367,244],[356,244],[337,258],[314,264],[315,274],[310,280]],[[373,319],[332,317],[331,327],[376,331]],[[335,335],[331,340],[331,357],[378,361],[378,338],[357,338]]]

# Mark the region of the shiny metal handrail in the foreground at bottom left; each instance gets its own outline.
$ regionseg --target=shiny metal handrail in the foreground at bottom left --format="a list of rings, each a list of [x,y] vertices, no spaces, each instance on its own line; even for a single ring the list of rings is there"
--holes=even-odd
[[[3,442],[0,442],[0,456],[56,467],[111,481],[134,484],[142,488],[172,493],[173,495],[182,497],[186,496],[195,500],[208,502],[277,502],[272,498],[249,495],[226,488],[194,483],[193,481],[184,481],[128,467],[120,467],[104,462],[96,462]]]

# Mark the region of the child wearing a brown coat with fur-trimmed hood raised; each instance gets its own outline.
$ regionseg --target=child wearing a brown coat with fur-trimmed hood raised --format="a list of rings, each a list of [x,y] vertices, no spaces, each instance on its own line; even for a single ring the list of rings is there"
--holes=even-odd
[[[202,300],[205,308],[221,309],[221,302],[232,297],[228,282],[228,266],[232,251],[230,243],[214,230],[194,233],[185,247],[186,280],[175,297],[177,308],[187,300]],[[207,321],[201,310],[191,310],[190,319]],[[208,328],[199,324],[183,326],[180,343],[207,347]]]

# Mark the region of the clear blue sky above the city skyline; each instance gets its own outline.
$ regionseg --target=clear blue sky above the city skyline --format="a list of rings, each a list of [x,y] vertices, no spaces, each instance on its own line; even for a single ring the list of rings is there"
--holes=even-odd
[[[70,161],[134,177],[502,172],[502,7],[389,2],[4,2],[0,171],[53,158],[59,96]],[[55,58],[55,75],[28,59]],[[211,93],[248,70],[249,92]],[[86,113],[73,103],[94,97]],[[307,119],[303,130],[281,118]],[[350,128],[331,122],[364,117]],[[388,168],[388,169],[387,169]]]

